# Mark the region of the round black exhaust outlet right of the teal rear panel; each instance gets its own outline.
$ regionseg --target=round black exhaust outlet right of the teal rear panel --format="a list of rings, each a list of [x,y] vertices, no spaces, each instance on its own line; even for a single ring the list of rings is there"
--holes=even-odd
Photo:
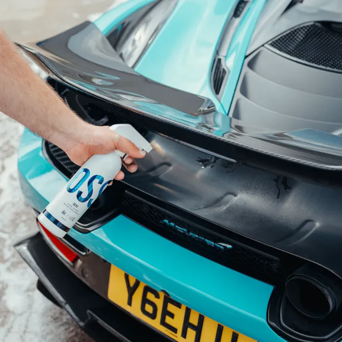
[[[286,280],[285,294],[303,315],[321,320],[342,302],[342,281],[322,267],[305,264]]]

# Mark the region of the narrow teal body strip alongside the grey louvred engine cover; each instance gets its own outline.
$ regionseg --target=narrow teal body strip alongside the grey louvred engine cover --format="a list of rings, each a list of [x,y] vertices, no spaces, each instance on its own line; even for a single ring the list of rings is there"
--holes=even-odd
[[[267,0],[253,0],[247,12],[236,28],[226,56],[226,65],[230,70],[228,81],[222,94],[221,103],[226,113],[232,104],[236,85],[240,77],[248,45],[251,41],[256,23]]]

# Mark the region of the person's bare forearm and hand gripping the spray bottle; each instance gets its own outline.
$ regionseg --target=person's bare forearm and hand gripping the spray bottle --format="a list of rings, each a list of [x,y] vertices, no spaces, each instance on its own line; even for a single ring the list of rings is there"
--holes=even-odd
[[[137,169],[134,158],[145,155],[144,151],[139,151],[128,139],[108,127],[93,126],[80,119],[31,70],[1,30],[0,111],[60,147],[78,165],[92,154],[121,150],[130,156],[124,163],[125,167],[134,172]],[[124,173],[120,171],[115,179],[123,177]]]

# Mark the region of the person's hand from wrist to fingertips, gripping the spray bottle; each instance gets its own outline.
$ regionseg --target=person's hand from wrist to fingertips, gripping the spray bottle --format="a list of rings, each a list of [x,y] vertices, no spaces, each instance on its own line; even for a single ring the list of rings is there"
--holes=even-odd
[[[99,127],[84,123],[82,129],[78,129],[82,134],[66,137],[60,146],[68,157],[77,165],[83,165],[93,154],[107,154],[109,152],[120,150],[128,154],[125,162],[122,164],[129,172],[135,172],[138,169],[135,158],[143,158],[145,151],[139,150],[131,141],[118,133],[113,132],[108,126]],[[125,176],[120,171],[116,180],[121,180]]]

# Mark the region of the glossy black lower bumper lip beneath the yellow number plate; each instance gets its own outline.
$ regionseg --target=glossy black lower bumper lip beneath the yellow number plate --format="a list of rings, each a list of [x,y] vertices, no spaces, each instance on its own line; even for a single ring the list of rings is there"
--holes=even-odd
[[[169,341],[90,289],[65,267],[40,233],[15,248],[57,303],[95,341],[138,342],[141,336],[146,341]]]

